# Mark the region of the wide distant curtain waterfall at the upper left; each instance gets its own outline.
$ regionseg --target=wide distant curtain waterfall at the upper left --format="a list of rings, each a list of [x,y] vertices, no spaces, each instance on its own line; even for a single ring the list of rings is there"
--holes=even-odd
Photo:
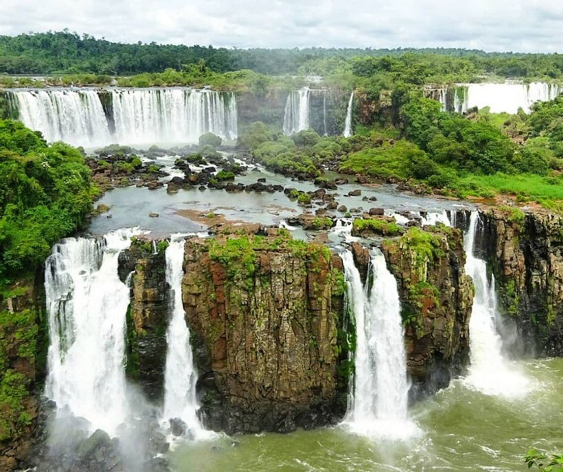
[[[95,88],[7,93],[15,97],[19,119],[47,141],[93,147],[196,143],[208,131],[225,140],[238,135],[234,93],[180,87],[106,90],[111,106],[105,112]]]

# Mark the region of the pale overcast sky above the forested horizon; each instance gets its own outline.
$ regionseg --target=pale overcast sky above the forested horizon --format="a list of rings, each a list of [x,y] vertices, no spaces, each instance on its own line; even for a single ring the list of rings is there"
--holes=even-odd
[[[562,0],[0,0],[0,34],[224,47],[563,51]]]

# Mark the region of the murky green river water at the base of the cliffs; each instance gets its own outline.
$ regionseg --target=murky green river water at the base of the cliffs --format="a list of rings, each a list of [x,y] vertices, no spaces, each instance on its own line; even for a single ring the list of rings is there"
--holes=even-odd
[[[410,409],[419,434],[378,440],[345,426],[291,434],[242,435],[177,445],[179,472],[360,472],[528,470],[529,448],[563,451],[563,359],[514,364],[528,378],[522,395],[485,395],[463,380]],[[498,379],[502,385],[502,379]]]

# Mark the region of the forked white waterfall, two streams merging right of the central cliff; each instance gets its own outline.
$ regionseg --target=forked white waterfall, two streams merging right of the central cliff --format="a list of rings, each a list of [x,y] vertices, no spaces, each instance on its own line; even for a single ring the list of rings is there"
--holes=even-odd
[[[405,438],[414,425],[407,420],[408,382],[399,293],[385,257],[373,253],[363,287],[350,251],[342,255],[348,304],[356,321],[353,392],[345,424],[355,433]]]

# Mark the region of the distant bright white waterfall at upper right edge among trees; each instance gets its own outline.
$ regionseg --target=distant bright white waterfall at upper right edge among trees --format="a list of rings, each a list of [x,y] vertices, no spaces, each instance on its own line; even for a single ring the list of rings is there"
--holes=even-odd
[[[563,87],[546,82],[523,83],[461,83],[456,84],[453,93],[453,110],[464,113],[470,108],[488,106],[491,113],[516,113],[522,108],[530,113],[531,106],[538,101],[554,100]],[[446,91],[440,90],[440,103],[445,109]]]

